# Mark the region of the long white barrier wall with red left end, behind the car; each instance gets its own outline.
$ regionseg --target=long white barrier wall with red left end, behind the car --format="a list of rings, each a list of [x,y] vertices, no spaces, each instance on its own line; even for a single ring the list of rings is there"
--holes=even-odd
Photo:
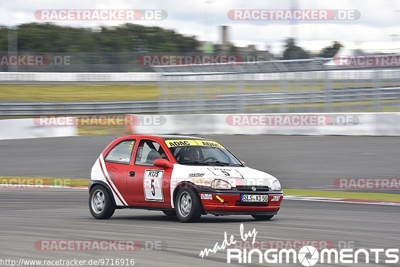
[[[283,134],[400,136],[400,113],[254,113],[134,115],[137,134]]]

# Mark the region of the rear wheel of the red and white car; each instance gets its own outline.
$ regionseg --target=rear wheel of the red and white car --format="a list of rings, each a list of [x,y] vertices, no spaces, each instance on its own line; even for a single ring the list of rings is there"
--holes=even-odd
[[[96,197],[96,199],[94,199]],[[101,208],[102,205],[102,208]],[[108,190],[100,185],[94,185],[89,195],[89,210],[96,219],[108,219],[114,214],[115,204]]]

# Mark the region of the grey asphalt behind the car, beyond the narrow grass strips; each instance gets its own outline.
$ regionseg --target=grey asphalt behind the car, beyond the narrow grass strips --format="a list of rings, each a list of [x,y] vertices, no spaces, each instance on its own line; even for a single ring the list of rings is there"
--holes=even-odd
[[[89,178],[115,135],[1,140],[0,175]],[[334,178],[398,178],[399,137],[212,135],[283,188],[334,189]],[[377,191],[382,191],[377,189]],[[384,192],[397,193],[399,190]]]

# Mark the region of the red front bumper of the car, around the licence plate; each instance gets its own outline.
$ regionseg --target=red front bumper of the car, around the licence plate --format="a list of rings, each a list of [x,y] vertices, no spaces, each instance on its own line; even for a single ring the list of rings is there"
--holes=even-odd
[[[205,213],[214,215],[275,215],[280,208],[283,192],[263,192],[253,194],[266,194],[266,202],[242,202],[241,194],[250,192],[200,192],[199,197]]]

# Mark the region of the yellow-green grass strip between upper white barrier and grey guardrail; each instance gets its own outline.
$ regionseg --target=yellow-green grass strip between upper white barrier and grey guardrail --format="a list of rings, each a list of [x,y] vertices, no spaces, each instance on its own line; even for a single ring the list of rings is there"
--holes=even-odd
[[[314,80],[286,80],[287,84],[281,88],[278,80],[267,80],[260,83],[243,82],[238,87],[236,82],[201,84],[191,82],[167,82],[163,84],[163,98],[196,98],[217,97],[223,93],[242,92],[280,92],[282,89],[289,92],[321,91],[325,89],[323,79]],[[397,82],[384,82],[382,86],[397,86]],[[332,88],[371,87],[373,83],[364,81],[332,82]],[[158,85],[154,84],[48,84],[48,85],[0,85],[0,100],[21,101],[117,101],[117,100],[151,100],[158,99]]]

